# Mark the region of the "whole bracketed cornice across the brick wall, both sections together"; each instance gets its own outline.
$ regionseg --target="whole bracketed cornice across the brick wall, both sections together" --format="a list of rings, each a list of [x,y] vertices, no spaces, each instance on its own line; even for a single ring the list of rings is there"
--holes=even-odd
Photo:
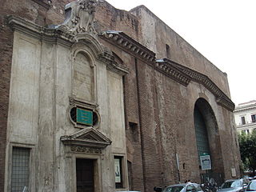
[[[228,98],[226,94],[224,94],[205,74],[191,70],[190,68],[170,61],[167,58],[155,61],[154,52],[148,50],[145,46],[142,46],[122,31],[107,30],[99,35],[111,44],[114,44],[114,46],[118,46],[134,56],[142,58],[147,64],[154,66],[155,70],[174,79],[174,81],[181,83],[183,86],[188,86],[190,81],[202,84],[207,90],[210,90],[210,92],[214,94],[218,105],[223,106],[230,111],[234,110],[234,102],[232,102],[230,98]]]

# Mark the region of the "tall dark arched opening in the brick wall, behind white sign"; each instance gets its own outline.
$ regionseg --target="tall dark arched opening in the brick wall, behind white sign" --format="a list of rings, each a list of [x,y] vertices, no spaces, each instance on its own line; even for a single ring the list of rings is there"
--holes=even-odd
[[[202,170],[202,166],[200,165],[200,173],[202,176],[207,173],[216,182],[222,182],[224,166],[218,134],[218,123],[214,110],[212,110],[210,104],[204,98],[198,98],[194,104],[194,130],[199,165],[200,156],[209,154],[211,161],[211,170]]]

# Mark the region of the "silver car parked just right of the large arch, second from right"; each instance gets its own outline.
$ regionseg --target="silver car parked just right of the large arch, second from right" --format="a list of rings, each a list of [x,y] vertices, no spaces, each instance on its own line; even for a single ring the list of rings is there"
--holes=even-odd
[[[243,192],[247,184],[241,179],[230,179],[222,184],[218,192]]]

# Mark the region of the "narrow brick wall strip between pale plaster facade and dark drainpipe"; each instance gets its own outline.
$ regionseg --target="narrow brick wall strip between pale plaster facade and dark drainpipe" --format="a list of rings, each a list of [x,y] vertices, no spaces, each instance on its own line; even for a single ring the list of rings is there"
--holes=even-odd
[[[132,161],[132,181],[129,184],[130,190],[144,191],[136,62],[133,57],[131,57],[130,62],[125,62],[130,69],[130,74],[126,75],[124,79],[126,142],[130,142],[131,144],[131,146],[127,145],[128,160],[130,158]],[[132,150],[130,150],[130,148],[132,148]],[[132,151],[132,153],[130,151]]]

